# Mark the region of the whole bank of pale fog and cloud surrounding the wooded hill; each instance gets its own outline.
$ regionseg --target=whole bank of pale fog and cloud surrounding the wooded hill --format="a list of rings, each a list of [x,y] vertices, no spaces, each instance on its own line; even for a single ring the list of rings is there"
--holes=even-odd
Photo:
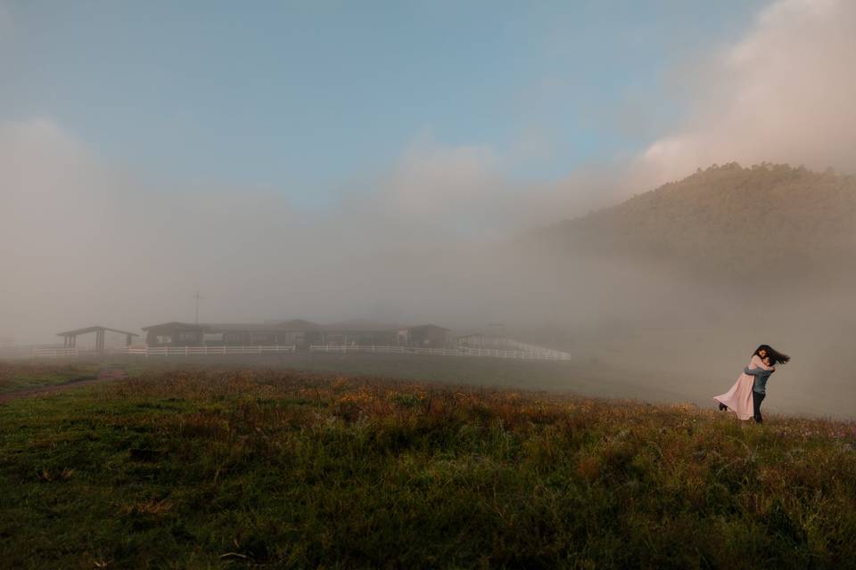
[[[329,208],[114,164],[50,116],[7,122],[0,337],[45,343],[93,324],[192,321],[200,289],[202,322],[503,322],[522,340],[700,402],[767,343],[794,357],[771,380],[771,409],[856,415],[843,356],[856,307],[834,284],[770,283],[758,295],[517,241],[716,162],[856,172],[853,30],[856,4],[844,0],[770,4],[736,44],[673,70],[663,88],[687,94],[691,111],[630,159],[531,183],[504,175],[509,157],[490,146],[416,134]]]

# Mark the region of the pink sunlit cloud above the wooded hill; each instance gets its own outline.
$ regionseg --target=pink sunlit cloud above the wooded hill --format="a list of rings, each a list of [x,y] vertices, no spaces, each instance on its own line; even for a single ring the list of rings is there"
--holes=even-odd
[[[856,3],[780,0],[736,45],[685,69],[685,125],[638,157],[632,179],[675,180],[737,160],[856,170]],[[680,78],[679,78],[680,80]]]

